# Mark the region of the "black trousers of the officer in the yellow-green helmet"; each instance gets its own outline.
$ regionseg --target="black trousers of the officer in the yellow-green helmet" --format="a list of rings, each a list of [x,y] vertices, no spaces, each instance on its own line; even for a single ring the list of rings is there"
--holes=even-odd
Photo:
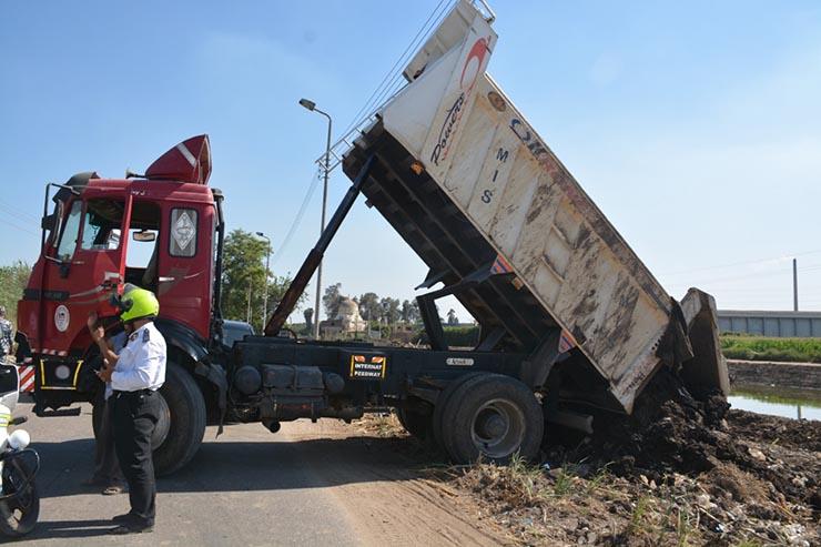
[[[160,394],[150,389],[114,392],[114,448],[129,484],[130,515],[134,524],[153,526],[156,484],[151,436],[160,418]]]

